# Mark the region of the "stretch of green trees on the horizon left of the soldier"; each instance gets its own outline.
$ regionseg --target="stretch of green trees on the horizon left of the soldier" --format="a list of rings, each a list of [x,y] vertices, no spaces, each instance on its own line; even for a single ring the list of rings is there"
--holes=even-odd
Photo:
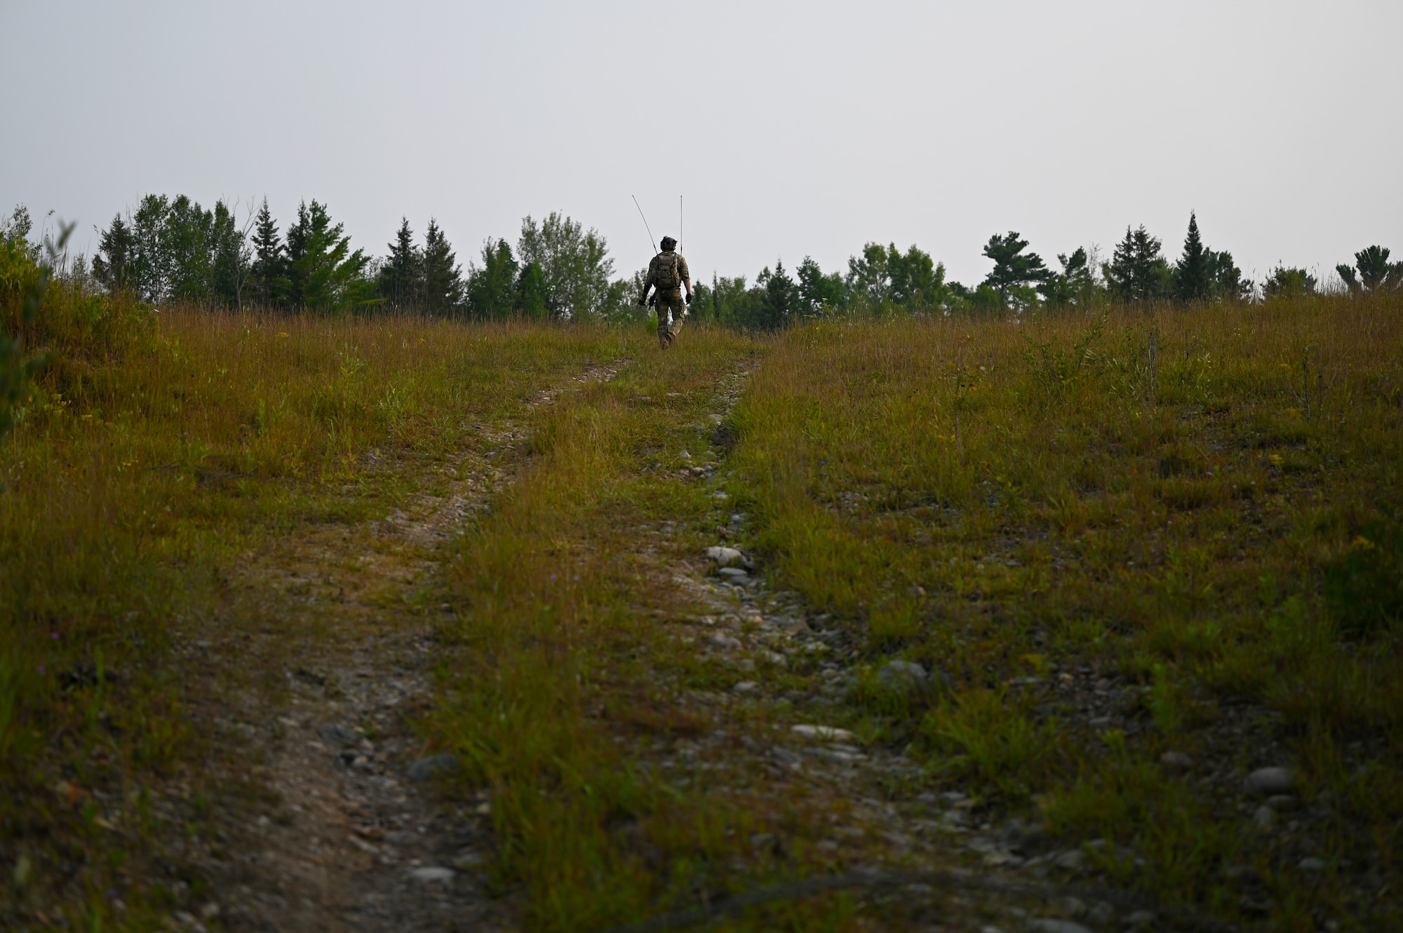
[[[375,258],[351,248],[325,205],[297,206],[281,231],[267,199],[236,223],[236,207],[213,210],[180,195],[147,195],[98,231],[91,275],[152,304],[289,311],[411,310],[442,317],[502,319],[615,317],[630,283],[610,280],[613,261],[596,230],[560,213],[522,220],[515,251],[483,245],[464,272],[448,235],[429,219],[417,242],[408,219]]]

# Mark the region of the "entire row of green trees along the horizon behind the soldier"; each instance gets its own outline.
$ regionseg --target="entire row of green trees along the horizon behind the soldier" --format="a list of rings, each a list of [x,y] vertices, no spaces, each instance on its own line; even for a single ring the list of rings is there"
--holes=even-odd
[[[240,224],[237,206],[212,210],[181,195],[147,195],[100,231],[91,276],[107,289],[128,289],[153,304],[248,305],[289,311],[370,312],[410,310],[474,319],[647,317],[634,300],[643,272],[615,277],[605,238],[560,213],[522,220],[515,247],[488,240],[467,269],[448,235],[429,219],[417,241],[401,219],[384,256],[352,249],[344,226],[313,200],[279,231],[267,199]],[[993,268],[982,282],[947,280],[930,254],[868,242],[846,270],[824,272],[805,256],[793,272],[776,262],[753,282],[713,275],[699,283],[692,314],[723,325],[777,329],[853,314],[1024,315],[1040,310],[1104,304],[1215,304],[1310,294],[1322,287],[1306,269],[1278,265],[1251,282],[1228,251],[1205,245],[1190,213],[1177,259],[1143,224],[1127,227],[1110,256],[1093,245],[1058,254],[1056,266],[1028,249],[1017,231],[993,234],[982,255]],[[1383,247],[1336,266],[1350,291],[1403,287],[1403,262]]]

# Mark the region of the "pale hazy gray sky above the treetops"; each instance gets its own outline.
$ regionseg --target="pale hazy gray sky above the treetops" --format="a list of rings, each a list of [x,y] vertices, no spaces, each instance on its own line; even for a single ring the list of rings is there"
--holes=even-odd
[[[1403,255],[1403,3],[0,0],[0,205],[93,224],[146,192],[317,198],[382,255],[464,261],[561,210],[619,272],[846,266],[915,242],[976,282],[1188,212],[1260,279]],[[86,234],[86,235],[83,235]]]

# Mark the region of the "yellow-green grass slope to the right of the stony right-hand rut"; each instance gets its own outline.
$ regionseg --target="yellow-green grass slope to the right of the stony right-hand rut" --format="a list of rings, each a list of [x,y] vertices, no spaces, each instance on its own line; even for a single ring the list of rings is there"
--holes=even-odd
[[[1253,920],[1222,873],[1256,852],[1284,927],[1379,923],[1403,843],[1381,785],[1403,765],[1400,401],[1396,298],[829,324],[773,347],[732,462],[779,584],[868,664],[950,677],[926,705],[853,700],[932,783],[1120,841],[1141,863],[1117,877],[1172,901]],[[1080,686],[1033,719],[1027,677]],[[1139,691],[1134,738],[1066,707],[1100,677]],[[1273,717],[1233,741],[1243,702]],[[1226,770],[1195,789],[1170,748]],[[1334,808],[1323,834],[1247,828],[1232,792],[1280,758]],[[1357,877],[1302,884],[1302,853]]]

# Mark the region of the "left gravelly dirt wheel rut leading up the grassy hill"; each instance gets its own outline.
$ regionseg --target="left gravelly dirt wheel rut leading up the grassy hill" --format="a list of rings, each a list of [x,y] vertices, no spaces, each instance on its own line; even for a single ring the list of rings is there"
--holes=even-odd
[[[528,405],[613,374],[591,368]],[[261,625],[212,619],[184,646],[212,672],[224,665],[262,688],[236,691],[209,716],[216,745],[241,748],[215,765],[224,769],[216,783],[244,792],[223,799],[208,845],[175,843],[173,855],[213,878],[208,890],[177,885],[177,926],[512,929],[512,898],[490,892],[484,871],[488,808],[435,793],[442,762],[424,756],[417,731],[449,611],[438,552],[511,482],[505,464],[526,440],[513,422],[476,429],[438,495],[248,555],[231,574],[230,607]]]

